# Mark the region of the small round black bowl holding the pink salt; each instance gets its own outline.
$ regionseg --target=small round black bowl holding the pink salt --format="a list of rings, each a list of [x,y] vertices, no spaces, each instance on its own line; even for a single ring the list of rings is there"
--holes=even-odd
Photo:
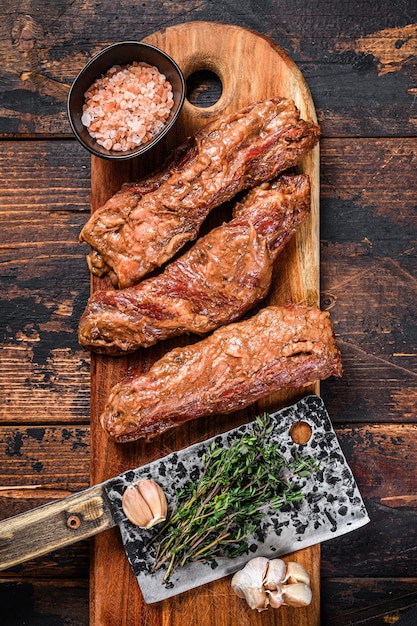
[[[139,145],[133,150],[120,152],[117,150],[106,150],[97,143],[89,133],[87,128],[81,122],[83,114],[84,94],[90,85],[103,76],[114,65],[126,65],[133,61],[145,62],[155,66],[172,85],[174,95],[174,105],[170,111],[169,117],[165,122],[165,126],[151,141]],[[96,156],[123,160],[131,159],[139,156],[152,148],[175,123],[185,98],[185,80],[178,65],[165,52],[150,46],[149,44],[137,41],[123,41],[115,43],[104,48],[95,57],[93,57],[87,65],[81,70],[77,78],[74,80],[70,92],[68,94],[67,112],[71,124],[71,128],[78,141]]]

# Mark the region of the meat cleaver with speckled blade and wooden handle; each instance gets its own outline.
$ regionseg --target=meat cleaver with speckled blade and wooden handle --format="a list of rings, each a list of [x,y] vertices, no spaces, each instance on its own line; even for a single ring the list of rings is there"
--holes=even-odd
[[[80,493],[45,504],[0,522],[0,570],[13,567],[52,550],[87,539],[118,526],[130,566],[146,603],[183,593],[212,580],[233,574],[254,556],[279,557],[338,537],[369,522],[359,489],[346,462],[322,399],[309,395],[280,411],[270,413],[274,429],[268,440],[277,443],[290,460],[295,454],[310,456],[319,469],[297,480],[305,494],[300,501],[269,511],[249,541],[248,554],[214,563],[192,563],[163,583],[163,570],[152,572],[148,549],[158,527],[149,531],[131,524],[122,509],[126,487],[141,478],[157,481],[172,509],[175,494],[187,481],[196,481],[201,459],[213,441],[228,447],[235,437],[253,429],[245,424],[202,443],[173,452],[157,461],[124,472],[116,478]],[[305,443],[293,440],[293,427],[305,422],[311,436]],[[267,443],[268,443],[267,440]]]

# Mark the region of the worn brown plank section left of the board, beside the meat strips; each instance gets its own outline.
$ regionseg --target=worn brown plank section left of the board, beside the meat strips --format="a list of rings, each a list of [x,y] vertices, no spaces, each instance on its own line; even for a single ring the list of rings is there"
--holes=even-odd
[[[73,141],[0,146],[3,423],[87,423],[89,358],[76,324],[88,294],[77,243],[90,160]]]

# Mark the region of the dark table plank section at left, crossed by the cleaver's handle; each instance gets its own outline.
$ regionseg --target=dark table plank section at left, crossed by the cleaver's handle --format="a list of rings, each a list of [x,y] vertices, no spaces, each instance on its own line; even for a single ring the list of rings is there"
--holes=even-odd
[[[19,515],[86,489],[89,453],[88,427],[1,427],[0,518]],[[1,577],[86,579],[88,567],[89,544],[81,541],[4,571]]]

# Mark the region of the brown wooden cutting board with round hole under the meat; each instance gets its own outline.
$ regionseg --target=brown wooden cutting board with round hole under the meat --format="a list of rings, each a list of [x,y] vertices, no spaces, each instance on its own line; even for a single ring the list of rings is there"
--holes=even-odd
[[[247,104],[281,95],[293,98],[305,119],[316,121],[314,104],[304,78],[287,54],[265,37],[239,26],[213,22],[190,22],[147,37],[181,67],[185,78],[199,70],[214,72],[222,82],[220,99],[209,108],[193,106],[187,99],[174,131],[163,146],[148,157],[112,163],[92,158],[92,210],[119,190],[160,165],[169,150],[209,119]],[[312,186],[312,211],[308,222],[281,253],[275,268],[268,303],[319,304],[319,149],[316,147],[299,166]],[[221,218],[221,211],[215,212]],[[211,217],[209,218],[211,219]],[[107,279],[92,279],[92,290],[107,288]],[[129,357],[92,356],[91,365],[91,483],[99,483],[122,471],[158,459],[216,433],[247,422],[259,412],[279,409],[318,386],[275,394],[254,407],[230,417],[199,419],[151,444],[118,445],[107,440],[99,415],[110,388],[132,369],[146,371],[168,349],[183,345],[187,338],[161,342]],[[124,555],[118,529],[98,535],[91,556],[91,626],[318,626],[320,623],[320,548],[313,546],[291,555],[309,571],[313,601],[307,608],[283,607],[262,613],[252,611],[230,590],[223,579],[170,600],[145,605],[136,579]]]

